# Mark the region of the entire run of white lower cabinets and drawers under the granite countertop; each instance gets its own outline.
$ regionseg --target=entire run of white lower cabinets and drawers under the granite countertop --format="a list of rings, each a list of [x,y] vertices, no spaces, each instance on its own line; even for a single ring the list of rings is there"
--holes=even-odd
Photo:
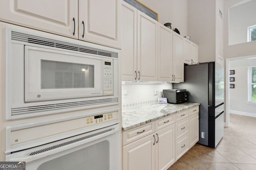
[[[167,170],[198,142],[198,110],[185,111],[122,132],[123,170]]]

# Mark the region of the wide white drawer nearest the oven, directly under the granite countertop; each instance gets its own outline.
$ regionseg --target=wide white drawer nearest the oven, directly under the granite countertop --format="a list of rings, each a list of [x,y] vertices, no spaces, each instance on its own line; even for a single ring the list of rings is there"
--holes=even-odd
[[[123,146],[155,132],[155,122],[146,123],[122,132]]]

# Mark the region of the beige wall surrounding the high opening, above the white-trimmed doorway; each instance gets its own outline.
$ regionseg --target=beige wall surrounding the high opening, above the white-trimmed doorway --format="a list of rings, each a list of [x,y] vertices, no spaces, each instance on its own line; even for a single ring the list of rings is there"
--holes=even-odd
[[[256,54],[256,41],[228,45],[228,9],[243,0],[224,0],[224,58],[250,56]],[[255,18],[255,16],[254,16]]]

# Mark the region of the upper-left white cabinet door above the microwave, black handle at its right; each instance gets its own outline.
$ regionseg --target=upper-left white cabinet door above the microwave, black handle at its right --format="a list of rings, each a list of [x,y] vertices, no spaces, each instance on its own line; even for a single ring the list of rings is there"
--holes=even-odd
[[[77,38],[78,1],[4,0],[1,1],[0,20]]]

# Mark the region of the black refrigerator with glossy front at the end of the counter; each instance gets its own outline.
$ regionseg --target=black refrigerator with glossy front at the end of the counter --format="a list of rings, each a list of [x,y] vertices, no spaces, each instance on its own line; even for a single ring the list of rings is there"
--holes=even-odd
[[[173,83],[186,89],[188,102],[200,103],[198,143],[215,148],[224,135],[224,66],[216,62],[184,66],[184,82]]]

